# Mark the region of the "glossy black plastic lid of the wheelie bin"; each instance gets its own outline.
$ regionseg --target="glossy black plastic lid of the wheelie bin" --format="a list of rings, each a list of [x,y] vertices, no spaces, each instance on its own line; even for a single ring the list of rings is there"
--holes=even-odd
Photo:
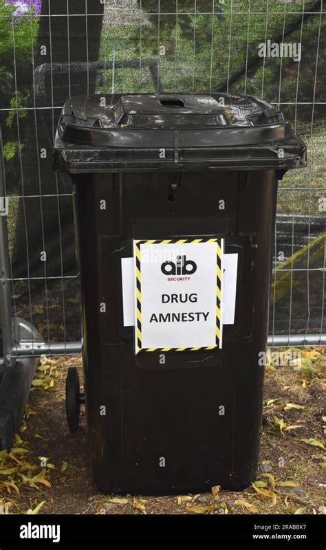
[[[54,144],[54,168],[67,173],[305,165],[305,144],[283,113],[243,94],[76,96]]]

